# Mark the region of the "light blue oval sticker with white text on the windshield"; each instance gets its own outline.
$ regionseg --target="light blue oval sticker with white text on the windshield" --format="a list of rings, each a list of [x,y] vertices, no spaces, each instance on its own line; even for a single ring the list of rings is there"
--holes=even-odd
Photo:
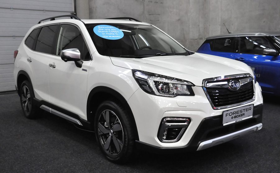
[[[99,37],[108,40],[118,40],[123,38],[123,32],[120,29],[110,25],[97,25],[93,28],[93,32]]]

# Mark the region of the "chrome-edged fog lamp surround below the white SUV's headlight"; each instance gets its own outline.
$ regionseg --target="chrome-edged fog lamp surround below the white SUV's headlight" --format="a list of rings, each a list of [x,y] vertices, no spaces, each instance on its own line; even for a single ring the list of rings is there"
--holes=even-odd
[[[158,140],[161,142],[179,141],[189,124],[189,118],[163,118],[158,130]]]

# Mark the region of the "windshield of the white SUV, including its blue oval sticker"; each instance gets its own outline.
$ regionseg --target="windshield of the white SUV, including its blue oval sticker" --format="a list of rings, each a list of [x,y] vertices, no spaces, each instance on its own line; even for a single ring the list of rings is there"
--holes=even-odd
[[[166,34],[146,24],[86,24],[99,54],[143,58],[163,55],[189,55]]]

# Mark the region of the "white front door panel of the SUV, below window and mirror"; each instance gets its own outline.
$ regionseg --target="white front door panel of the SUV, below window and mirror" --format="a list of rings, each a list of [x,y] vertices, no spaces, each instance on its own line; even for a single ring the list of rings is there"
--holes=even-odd
[[[84,61],[83,69],[89,70],[91,61]],[[48,66],[50,103],[76,113],[86,119],[88,71],[77,68],[74,62],[64,62],[52,56]]]

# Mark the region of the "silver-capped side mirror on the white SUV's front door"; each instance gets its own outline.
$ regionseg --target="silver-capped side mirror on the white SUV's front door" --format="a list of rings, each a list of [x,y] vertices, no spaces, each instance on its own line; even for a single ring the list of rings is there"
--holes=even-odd
[[[81,61],[79,49],[64,49],[61,51],[60,57],[64,62],[74,61],[77,67],[82,67],[83,61]]]

